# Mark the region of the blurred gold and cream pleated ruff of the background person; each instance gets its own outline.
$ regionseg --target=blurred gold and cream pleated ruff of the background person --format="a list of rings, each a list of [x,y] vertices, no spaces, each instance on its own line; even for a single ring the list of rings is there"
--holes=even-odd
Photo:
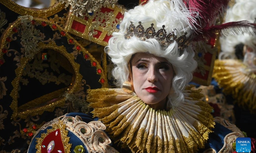
[[[234,103],[251,113],[256,113],[256,75],[245,74],[245,65],[239,60],[217,60],[214,65],[213,77],[223,92],[231,94]]]

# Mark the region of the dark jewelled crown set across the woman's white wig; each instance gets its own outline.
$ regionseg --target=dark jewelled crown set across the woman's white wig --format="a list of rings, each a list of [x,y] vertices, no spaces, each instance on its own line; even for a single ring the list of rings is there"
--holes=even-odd
[[[141,25],[141,22],[139,22],[139,25],[137,27],[135,27],[135,25],[133,25],[133,23],[131,22],[131,25],[127,28],[127,33],[124,35],[124,38],[130,39],[132,38],[132,36],[136,36],[137,38],[140,38],[140,40],[155,38],[159,41],[161,47],[168,47],[170,44],[176,41],[180,50],[183,50],[184,48],[189,46],[191,37],[186,37],[187,32],[177,38],[177,34],[174,33],[176,29],[174,29],[171,33],[167,34],[166,30],[164,29],[165,25],[162,25],[162,27],[162,29],[159,29],[156,32],[154,24],[151,23],[151,26],[148,27],[145,31],[143,25]]]

